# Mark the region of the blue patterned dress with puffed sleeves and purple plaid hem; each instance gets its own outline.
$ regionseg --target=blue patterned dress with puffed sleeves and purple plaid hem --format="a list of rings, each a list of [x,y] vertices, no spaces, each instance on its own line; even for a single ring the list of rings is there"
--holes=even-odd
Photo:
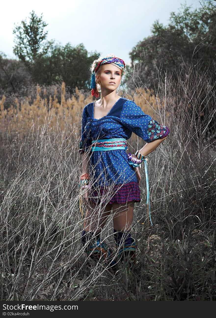
[[[140,189],[134,169],[128,163],[124,149],[91,151],[93,140],[106,138],[129,139],[134,132],[146,142],[169,135],[169,128],[146,115],[132,100],[121,97],[109,113],[95,119],[94,102],[83,109],[79,153],[90,153],[90,200],[113,204],[140,202]]]

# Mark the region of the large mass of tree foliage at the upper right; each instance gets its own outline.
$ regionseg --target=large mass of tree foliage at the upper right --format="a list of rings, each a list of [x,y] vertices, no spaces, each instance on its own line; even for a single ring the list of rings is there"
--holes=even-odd
[[[152,25],[152,35],[138,42],[130,52],[132,67],[129,70],[138,86],[145,84],[154,89],[158,73],[176,71],[191,62],[200,63],[200,71],[211,65],[216,56],[216,7],[212,1],[191,11],[182,6],[178,13],[172,12],[169,24],[163,26],[158,20]],[[138,66],[133,67],[133,64]],[[131,76],[127,85],[135,88]]]

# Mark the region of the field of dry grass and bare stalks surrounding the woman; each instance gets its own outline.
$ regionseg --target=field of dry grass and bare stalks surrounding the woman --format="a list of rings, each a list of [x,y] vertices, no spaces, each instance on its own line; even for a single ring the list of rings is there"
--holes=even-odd
[[[207,75],[197,78],[193,71],[176,85],[166,78],[160,99],[145,87],[134,98],[171,133],[149,155],[152,227],[142,167],[142,201],[135,205],[132,229],[138,241],[133,275],[123,268],[114,275],[86,259],[80,245],[78,140],[91,96],[65,101],[63,84],[61,104],[50,98],[52,116],[39,87],[32,104],[28,99],[5,111],[2,99],[1,300],[216,300],[215,145],[197,121],[200,92],[208,96],[211,115],[215,93]],[[209,120],[207,114],[204,127]],[[129,140],[132,149],[142,142],[135,135]],[[111,217],[103,237],[113,245]]]

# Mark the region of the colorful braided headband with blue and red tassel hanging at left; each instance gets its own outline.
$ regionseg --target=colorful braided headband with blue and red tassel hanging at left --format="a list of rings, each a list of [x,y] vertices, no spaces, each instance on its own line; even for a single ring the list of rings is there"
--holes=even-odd
[[[96,67],[91,74],[91,86],[90,86],[90,88],[92,88],[92,90],[91,90],[92,96],[95,96],[97,98],[99,97],[98,89],[97,89],[97,86],[95,83],[95,74],[96,74],[99,66],[102,64],[111,64],[111,63],[116,64],[122,71],[125,68],[125,62],[122,59],[119,59],[117,57],[103,58],[101,61],[99,61],[96,64]],[[122,77],[122,74],[121,74],[121,77]]]

